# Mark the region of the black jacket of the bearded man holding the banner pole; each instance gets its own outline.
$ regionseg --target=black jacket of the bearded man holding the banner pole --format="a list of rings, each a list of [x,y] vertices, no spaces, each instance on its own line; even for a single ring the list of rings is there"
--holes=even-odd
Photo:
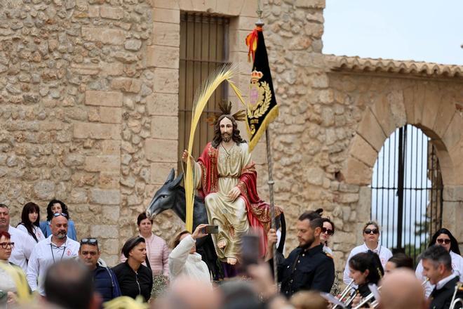
[[[300,290],[330,292],[335,281],[333,258],[323,252],[323,245],[303,250],[296,248],[278,265],[281,293],[290,297]]]

